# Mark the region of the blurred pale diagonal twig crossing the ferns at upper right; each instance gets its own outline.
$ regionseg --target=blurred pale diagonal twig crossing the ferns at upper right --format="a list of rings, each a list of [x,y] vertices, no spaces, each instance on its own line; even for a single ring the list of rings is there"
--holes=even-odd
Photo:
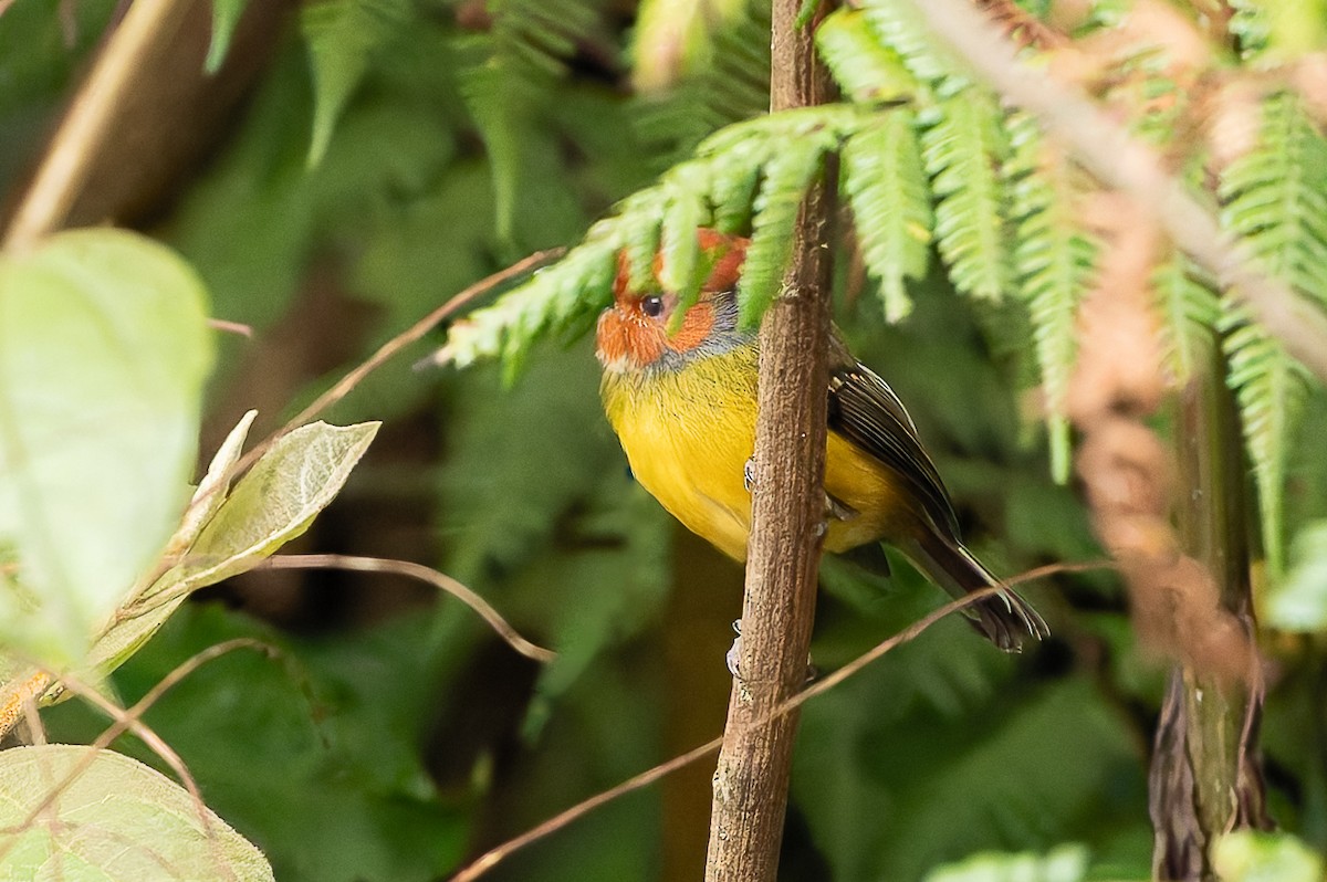
[[[1170,239],[1210,271],[1231,297],[1249,306],[1290,354],[1327,379],[1327,316],[1267,276],[1249,249],[1165,170],[1154,150],[1082,90],[1055,80],[1054,70],[1019,61],[1016,48],[967,0],[912,4],[991,86],[1035,114],[1100,180],[1156,218]]]

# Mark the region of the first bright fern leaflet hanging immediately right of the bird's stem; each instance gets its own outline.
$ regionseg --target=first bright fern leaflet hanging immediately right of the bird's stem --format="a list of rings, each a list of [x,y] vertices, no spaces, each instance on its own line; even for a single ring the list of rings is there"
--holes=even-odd
[[[917,145],[916,114],[900,107],[863,129],[843,149],[843,190],[852,207],[867,269],[880,281],[885,320],[912,312],[905,279],[922,279],[934,221]]]

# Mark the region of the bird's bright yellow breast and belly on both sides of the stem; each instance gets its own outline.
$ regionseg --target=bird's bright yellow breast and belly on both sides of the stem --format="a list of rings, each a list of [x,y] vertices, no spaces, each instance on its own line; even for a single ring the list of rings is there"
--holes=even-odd
[[[604,410],[632,473],[674,517],[746,560],[751,495],[743,470],[755,447],[756,350],[701,358],[678,371],[604,374]],[[831,432],[825,489],[857,512],[831,521],[825,549],[841,552],[889,532],[898,509],[890,472]]]

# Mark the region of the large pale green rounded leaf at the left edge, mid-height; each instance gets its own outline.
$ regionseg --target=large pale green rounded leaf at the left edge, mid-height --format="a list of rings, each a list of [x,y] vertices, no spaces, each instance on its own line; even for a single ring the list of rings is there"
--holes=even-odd
[[[12,645],[76,658],[161,552],[211,363],[203,285],[162,245],[88,229],[0,257],[0,542],[41,601],[0,623]]]

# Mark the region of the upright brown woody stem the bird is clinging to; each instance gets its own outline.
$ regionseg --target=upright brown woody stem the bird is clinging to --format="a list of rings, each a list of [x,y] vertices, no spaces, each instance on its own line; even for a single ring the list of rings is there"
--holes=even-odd
[[[798,0],[774,0],[771,109],[823,103],[831,84]],[[832,164],[832,163],[829,163]],[[714,773],[709,882],[774,879],[796,715],[768,719],[800,690],[815,615],[824,511],[833,170],[802,204],[783,296],[760,328],[759,418],[742,650]],[[760,723],[759,720],[767,722]]]

